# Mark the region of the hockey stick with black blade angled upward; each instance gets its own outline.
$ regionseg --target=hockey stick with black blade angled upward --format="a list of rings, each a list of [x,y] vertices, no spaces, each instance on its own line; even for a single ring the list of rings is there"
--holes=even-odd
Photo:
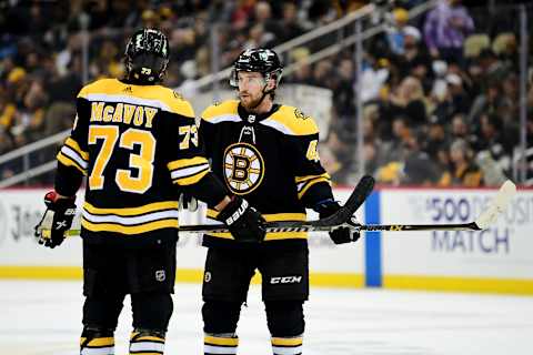
[[[329,217],[315,221],[279,221],[266,222],[266,232],[315,232],[331,231],[332,227],[341,225],[353,227],[351,220],[355,211],[364,203],[366,197],[374,187],[374,179],[370,175],[361,178],[352,194],[348,197],[344,205]],[[229,232],[224,224],[197,224],[180,225],[180,232],[188,233],[221,233]],[[42,230],[42,234],[47,237],[50,230]],[[80,230],[69,230],[67,236],[80,235]]]

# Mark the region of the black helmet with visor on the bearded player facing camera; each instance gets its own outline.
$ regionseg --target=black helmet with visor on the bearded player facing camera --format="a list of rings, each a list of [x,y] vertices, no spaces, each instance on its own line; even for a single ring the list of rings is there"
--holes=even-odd
[[[230,75],[230,85],[239,87],[237,73],[240,71],[259,72],[265,81],[275,80],[275,87],[281,81],[283,65],[278,54],[265,48],[247,49],[237,58]]]

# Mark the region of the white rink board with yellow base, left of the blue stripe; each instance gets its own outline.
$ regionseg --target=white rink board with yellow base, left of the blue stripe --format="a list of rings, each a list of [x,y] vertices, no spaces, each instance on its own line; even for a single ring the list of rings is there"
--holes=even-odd
[[[343,201],[351,190],[339,189]],[[74,278],[81,273],[81,240],[71,237],[53,250],[37,244],[33,226],[44,211],[46,190],[0,191],[0,278]],[[81,197],[77,204],[81,205]],[[316,217],[314,214],[309,216]],[[204,223],[202,213],[181,213],[181,224]],[[207,248],[198,234],[183,234],[178,243],[178,282],[201,282]],[[335,247],[325,233],[310,235],[311,284],[316,286],[362,287],[364,244]],[[255,277],[254,282],[260,282]]]

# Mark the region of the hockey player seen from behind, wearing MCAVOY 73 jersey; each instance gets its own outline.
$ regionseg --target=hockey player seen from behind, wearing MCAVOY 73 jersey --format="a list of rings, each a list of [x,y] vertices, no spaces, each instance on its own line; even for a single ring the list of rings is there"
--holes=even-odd
[[[159,84],[169,61],[167,37],[139,30],[124,55],[125,79],[98,80],[78,94],[71,135],[58,153],[54,191],[44,197],[46,216],[53,214],[51,239],[42,225],[37,230],[41,244],[61,244],[87,175],[82,355],[114,354],[127,294],[133,311],[130,354],[163,354],[181,192],[214,205],[235,240],[264,236],[261,215],[211,172],[190,103]]]

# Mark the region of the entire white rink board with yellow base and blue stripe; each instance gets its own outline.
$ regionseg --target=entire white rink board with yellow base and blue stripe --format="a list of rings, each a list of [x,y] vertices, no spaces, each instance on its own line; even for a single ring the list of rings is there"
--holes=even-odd
[[[81,278],[81,241],[40,247],[33,225],[43,207],[41,189],[0,191],[0,277]],[[335,189],[343,201],[349,189]],[[366,223],[462,223],[474,220],[495,190],[383,189],[360,210]],[[80,205],[78,201],[78,205]],[[364,214],[364,216],[363,216]],[[310,219],[315,215],[310,214]],[[182,224],[203,223],[184,213]],[[483,232],[366,233],[335,246],[310,235],[311,283],[533,295],[533,191],[519,190],[507,213]],[[178,281],[201,282],[205,248],[194,235],[178,245]],[[260,282],[259,277],[254,282]]]

